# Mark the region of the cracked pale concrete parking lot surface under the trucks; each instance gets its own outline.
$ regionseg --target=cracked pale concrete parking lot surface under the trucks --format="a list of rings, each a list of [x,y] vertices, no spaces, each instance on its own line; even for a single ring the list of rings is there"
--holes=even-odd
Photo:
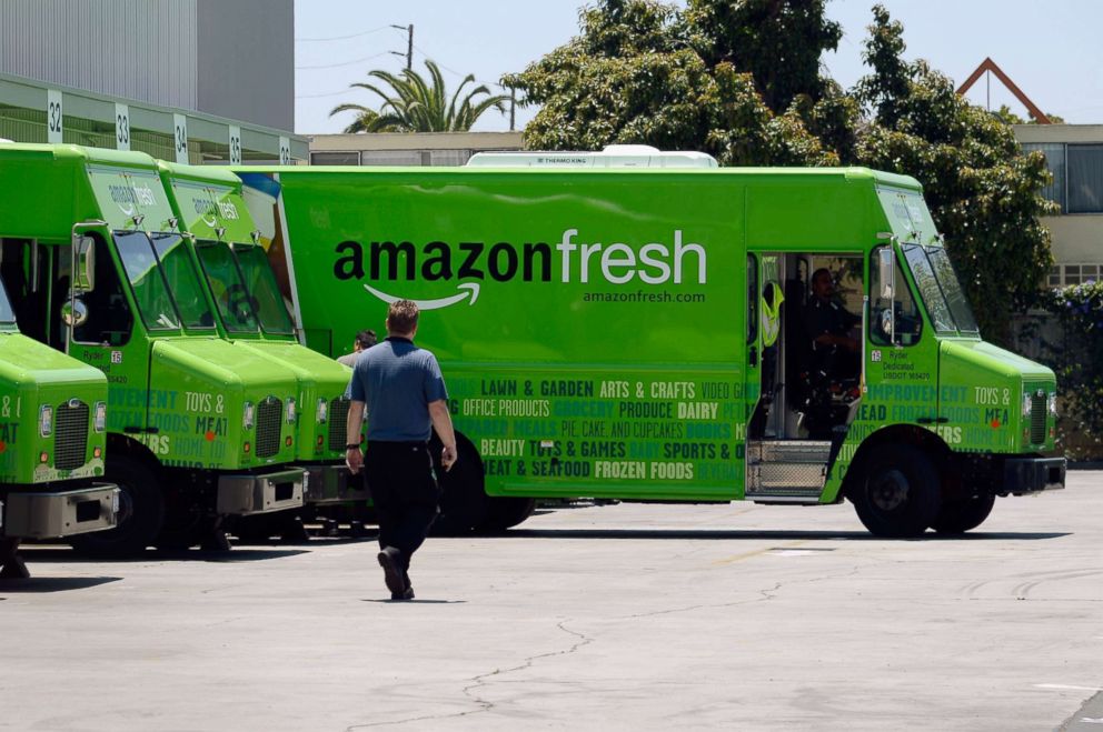
[[[431,538],[26,551],[0,730],[1103,730],[1103,472],[964,538],[849,504],[585,505]]]

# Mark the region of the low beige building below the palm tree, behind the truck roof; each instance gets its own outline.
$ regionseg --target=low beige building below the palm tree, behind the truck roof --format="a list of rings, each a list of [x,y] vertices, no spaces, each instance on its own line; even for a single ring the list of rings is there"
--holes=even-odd
[[[314,166],[463,166],[476,152],[520,150],[520,132],[312,134]]]

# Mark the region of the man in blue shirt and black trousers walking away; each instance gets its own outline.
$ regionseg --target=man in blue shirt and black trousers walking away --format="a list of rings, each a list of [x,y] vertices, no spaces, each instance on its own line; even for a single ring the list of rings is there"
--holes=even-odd
[[[456,462],[456,434],[448,393],[433,353],[414,344],[418,309],[398,300],[387,311],[387,339],[364,351],[349,382],[345,462],[364,468],[379,518],[379,565],[391,600],[413,600],[410,556],[437,517],[440,491],[428,441],[436,429],[444,443],[440,464]],[[367,455],[360,453],[365,404],[369,408]]]

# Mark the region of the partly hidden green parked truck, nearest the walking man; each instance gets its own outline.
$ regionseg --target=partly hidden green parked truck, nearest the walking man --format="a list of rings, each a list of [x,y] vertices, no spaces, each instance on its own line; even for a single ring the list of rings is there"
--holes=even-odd
[[[301,345],[250,214],[241,180],[226,169],[158,162],[165,192],[192,240],[219,334],[250,355],[294,372],[299,419],[296,464],[308,474],[304,501],[365,500],[345,467],[345,397],[351,370]]]

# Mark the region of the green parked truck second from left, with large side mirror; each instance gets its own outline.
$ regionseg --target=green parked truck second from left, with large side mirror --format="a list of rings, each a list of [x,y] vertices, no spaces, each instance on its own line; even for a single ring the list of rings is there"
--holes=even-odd
[[[118,525],[72,543],[117,554],[218,545],[225,517],[301,505],[294,374],[219,338],[153,160],[3,144],[0,189],[4,262],[32,273],[18,293],[27,302],[24,332],[42,323],[38,340],[108,382]]]

